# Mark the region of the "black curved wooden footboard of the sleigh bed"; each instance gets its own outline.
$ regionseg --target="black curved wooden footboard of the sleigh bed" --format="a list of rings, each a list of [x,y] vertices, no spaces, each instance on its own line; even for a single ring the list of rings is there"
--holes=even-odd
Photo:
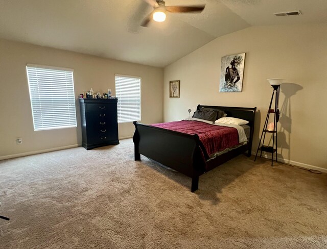
[[[205,172],[205,160],[198,135],[170,131],[133,122],[134,159],[141,154],[192,178],[191,191],[198,189],[199,176]],[[169,156],[167,156],[169,155]]]

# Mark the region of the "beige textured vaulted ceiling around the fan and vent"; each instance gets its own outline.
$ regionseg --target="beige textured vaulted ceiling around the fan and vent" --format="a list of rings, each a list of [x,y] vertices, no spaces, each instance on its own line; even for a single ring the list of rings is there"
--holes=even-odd
[[[139,26],[143,0],[0,0],[0,38],[164,67],[215,38],[250,26],[327,22],[327,0],[166,0],[206,4]],[[273,13],[301,10],[300,16]]]

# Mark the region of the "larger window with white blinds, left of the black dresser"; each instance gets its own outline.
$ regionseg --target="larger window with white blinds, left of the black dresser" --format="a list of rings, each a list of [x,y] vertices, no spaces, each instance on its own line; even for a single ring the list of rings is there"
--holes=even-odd
[[[34,131],[76,127],[72,69],[27,65]]]

